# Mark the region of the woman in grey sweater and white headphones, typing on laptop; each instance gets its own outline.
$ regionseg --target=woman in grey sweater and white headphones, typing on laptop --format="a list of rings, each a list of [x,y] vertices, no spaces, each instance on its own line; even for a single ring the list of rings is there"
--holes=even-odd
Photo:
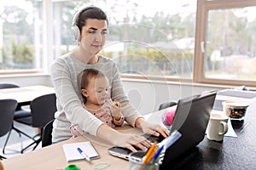
[[[145,122],[143,116],[131,106],[125,96],[118,67],[113,60],[98,54],[108,36],[108,17],[102,9],[94,6],[81,9],[74,16],[72,30],[78,47],[55,59],[50,67],[58,108],[52,133],[53,142],[72,137],[69,127],[71,124],[77,124],[85,132],[132,151],[136,151],[133,145],[142,150],[150,146],[147,139],[129,133],[119,133],[84,110],[78,76],[87,68],[102,71],[108,77],[110,98],[121,103],[121,111],[126,122],[132,127],[141,128],[143,133],[155,136],[161,134],[166,137],[168,131],[165,127]]]

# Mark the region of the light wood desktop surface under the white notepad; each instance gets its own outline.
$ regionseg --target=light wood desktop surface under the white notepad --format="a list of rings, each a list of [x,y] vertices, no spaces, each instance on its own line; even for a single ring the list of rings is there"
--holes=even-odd
[[[122,129],[124,130],[125,128]],[[131,129],[131,127],[127,126],[127,129],[128,133],[130,132],[129,129]],[[136,132],[136,130],[133,132],[138,133],[138,131]],[[90,163],[88,163],[87,161],[73,161],[71,163],[67,163],[66,157],[64,156],[62,144],[82,141],[87,141],[87,139],[84,137],[68,139],[57,144],[27,152],[20,156],[15,156],[7,160],[3,160],[4,169],[61,170],[67,167],[68,164],[76,164],[81,167],[81,170],[93,169],[92,165],[90,165]],[[108,154],[108,148],[110,147],[110,145],[99,144],[98,142],[94,141],[92,141],[91,143],[95,146],[96,150],[99,152],[100,155],[100,159],[92,160],[92,163],[94,165],[96,163],[108,162],[110,163],[110,167],[106,168],[108,170],[120,169],[120,167],[122,167],[123,170],[129,169],[128,161],[119,159],[114,156],[110,156]]]

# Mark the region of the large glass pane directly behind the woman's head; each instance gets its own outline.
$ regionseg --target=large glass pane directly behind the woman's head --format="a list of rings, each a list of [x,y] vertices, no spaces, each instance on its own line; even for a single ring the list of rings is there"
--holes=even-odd
[[[74,48],[73,14],[96,5],[109,18],[108,42],[102,54],[113,58],[123,74],[147,77],[192,77],[196,0],[53,1],[54,55]]]

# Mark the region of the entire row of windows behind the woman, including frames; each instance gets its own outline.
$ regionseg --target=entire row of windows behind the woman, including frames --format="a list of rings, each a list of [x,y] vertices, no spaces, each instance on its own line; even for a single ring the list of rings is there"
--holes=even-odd
[[[3,2],[0,74],[47,70],[75,48],[73,15],[92,4],[109,19],[101,53],[123,77],[256,86],[256,0]]]

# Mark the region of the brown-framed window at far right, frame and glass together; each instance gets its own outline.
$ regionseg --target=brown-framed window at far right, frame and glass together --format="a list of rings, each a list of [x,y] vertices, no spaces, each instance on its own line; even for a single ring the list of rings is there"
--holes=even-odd
[[[212,1],[201,5],[201,47],[197,49],[203,58],[198,59],[199,65],[204,66],[198,70],[198,81],[255,86],[256,2]]]

